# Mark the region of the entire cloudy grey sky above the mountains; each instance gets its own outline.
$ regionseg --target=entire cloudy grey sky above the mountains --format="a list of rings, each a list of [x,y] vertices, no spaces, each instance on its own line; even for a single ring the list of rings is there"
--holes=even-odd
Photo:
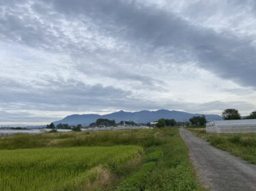
[[[1,0],[0,125],[256,110],[255,0]]]

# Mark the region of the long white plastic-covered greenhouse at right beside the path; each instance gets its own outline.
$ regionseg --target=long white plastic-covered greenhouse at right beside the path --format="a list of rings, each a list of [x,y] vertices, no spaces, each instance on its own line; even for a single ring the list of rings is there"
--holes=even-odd
[[[218,120],[206,124],[206,133],[256,133],[256,120]]]

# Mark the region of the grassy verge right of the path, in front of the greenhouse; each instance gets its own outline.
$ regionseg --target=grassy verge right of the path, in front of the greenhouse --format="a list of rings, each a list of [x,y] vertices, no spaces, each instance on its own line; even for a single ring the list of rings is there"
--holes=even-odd
[[[256,133],[209,134],[203,129],[188,129],[198,137],[209,141],[214,147],[256,164]]]

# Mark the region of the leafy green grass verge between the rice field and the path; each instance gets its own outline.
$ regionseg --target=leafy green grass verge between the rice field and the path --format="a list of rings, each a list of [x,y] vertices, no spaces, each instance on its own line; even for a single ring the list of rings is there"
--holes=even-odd
[[[147,148],[139,171],[121,181],[116,191],[203,190],[178,129],[163,128],[158,133],[164,143]]]

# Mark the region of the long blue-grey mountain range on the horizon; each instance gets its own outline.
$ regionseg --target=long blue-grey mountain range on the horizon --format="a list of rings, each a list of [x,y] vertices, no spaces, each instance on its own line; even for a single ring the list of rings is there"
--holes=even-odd
[[[158,111],[136,111],[136,112],[126,112],[126,111],[117,111],[112,114],[98,115],[98,114],[83,114],[83,115],[71,115],[53,122],[54,124],[69,124],[69,125],[89,125],[92,122],[95,122],[98,118],[104,118],[108,120],[115,120],[115,122],[120,122],[122,120],[129,121],[132,120],[137,123],[147,123],[153,122],[160,118],[166,119],[175,119],[176,121],[185,122],[188,121],[193,116],[201,116],[202,114],[190,114],[183,111],[169,111],[167,109],[160,109]],[[205,115],[206,120],[222,120],[221,116],[218,115]]]

